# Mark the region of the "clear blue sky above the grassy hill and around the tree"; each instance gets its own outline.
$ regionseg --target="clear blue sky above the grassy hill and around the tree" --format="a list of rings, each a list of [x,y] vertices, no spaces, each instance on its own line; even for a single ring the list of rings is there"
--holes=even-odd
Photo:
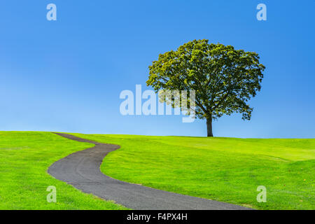
[[[57,21],[46,20],[48,3]],[[267,21],[256,20],[258,3]],[[219,137],[315,137],[315,1],[1,1],[0,130],[207,134],[204,120],[122,116],[119,94],[148,78],[159,53],[207,38],[258,52],[251,121],[214,122]]]

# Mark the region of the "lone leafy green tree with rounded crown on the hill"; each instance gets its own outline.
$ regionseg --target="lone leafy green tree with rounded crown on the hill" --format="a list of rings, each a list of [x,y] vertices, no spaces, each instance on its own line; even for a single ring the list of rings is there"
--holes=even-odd
[[[195,90],[195,114],[207,119],[207,136],[213,137],[212,120],[223,114],[251,119],[253,108],[247,102],[260,91],[265,66],[255,52],[194,40],[160,54],[149,69],[146,84],[155,92]]]

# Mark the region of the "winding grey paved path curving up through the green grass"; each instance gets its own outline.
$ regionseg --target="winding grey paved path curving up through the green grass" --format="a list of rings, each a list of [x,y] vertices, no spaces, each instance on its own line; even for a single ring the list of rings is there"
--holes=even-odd
[[[235,204],[227,204],[199,197],[169,193],[145,186],[126,183],[104,175],[99,167],[103,158],[120,148],[111,144],[101,144],[80,139],[71,134],[55,133],[75,141],[94,144],[93,148],[78,151],[52,164],[48,173],[60,181],[71,184],[84,193],[90,193],[104,200],[113,200],[130,209],[186,210],[186,209],[247,209]]]

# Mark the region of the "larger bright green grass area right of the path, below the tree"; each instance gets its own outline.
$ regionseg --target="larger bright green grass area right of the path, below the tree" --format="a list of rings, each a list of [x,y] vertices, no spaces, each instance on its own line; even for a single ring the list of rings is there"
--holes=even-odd
[[[101,167],[115,179],[255,209],[315,209],[315,139],[74,135],[122,146]]]

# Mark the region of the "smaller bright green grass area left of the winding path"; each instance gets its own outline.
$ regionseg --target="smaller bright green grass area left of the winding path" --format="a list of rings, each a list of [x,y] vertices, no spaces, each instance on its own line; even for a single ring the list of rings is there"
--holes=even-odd
[[[48,132],[0,132],[0,209],[124,209],[47,173],[53,162],[90,146]],[[57,188],[57,203],[47,202],[48,186]]]

